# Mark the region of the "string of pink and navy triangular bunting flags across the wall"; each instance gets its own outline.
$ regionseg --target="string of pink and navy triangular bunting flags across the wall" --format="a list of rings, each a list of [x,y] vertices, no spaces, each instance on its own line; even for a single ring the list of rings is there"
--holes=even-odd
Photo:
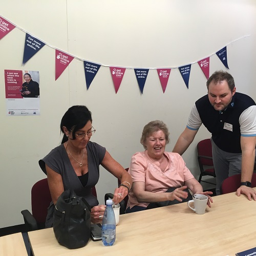
[[[16,26],[12,22],[10,22],[8,19],[5,19],[3,16],[0,16],[0,39],[3,38],[5,35],[7,35],[9,32],[11,32],[15,27],[26,33],[23,65],[25,65],[25,63],[31,57],[33,57],[42,47],[47,45],[48,47],[55,49],[55,80],[58,79],[58,77],[62,74],[62,72],[68,67],[70,62],[75,58],[77,60],[83,61],[87,89],[89,89],[90,84],[93,81],[94,77],[96,76],[99,68],[101,66],[103,66],[103,67],[110,68],[110,72],[111,72],[111,76],[112,76],[112,80],[114,83],[116,93],[120,87],[125,70],[133,69],[135,72],[135,76],[137,78],[137,82],[138,82],[141,94],[143,93],[145,81],[146,81],[149,70],[157,70],[159,80],[160,80],[160,83],[161,83],[161,86],[163,89],[163,93],[164,93],[166,86],[167,86],[170,71],[172,69],[179,69],[180,74],[185,82],[187,89],[188,89],[191,65],[194,63],[198,63],[198,65],[200,66],[201,70],[203,71],[203,73],[207,79],[209,78],[210,56],[212,56],[212,55],[217,54],[217,56],[219,57],[219,59],[221,60],[223,65],[227,69],[229,69],[228,62],[227,62],[227,48],[226,47],[235,41],[238,41],[242,38],[250,36],[250,35],[244,35],[237,39],[234,39],[234,40],[228,42],[228,44],[226,44],[223,48],[221,48],[217,52],[212,53],[212,54],[210,54],[202,59],[199,59],[197,61],[190,62],[186,65],[173,67],[173,68],[172,67],[167,67],[167,68],[155,68],[155,67],[154,68],[153,67],[141,68],[140,67],[140,68],[136,68],[136,67],[123,67],[123,66],[109,66],[109,65],[100,64],[97,62],[92,62],[92,61],[89,61],[86,59],[78,58],[77,56],[74,56],[70,53],[67,53],[65,51],[62,51],[62,50],[56,48],[56,47],[53,47],[53,46],[49,45],[47,42],[42,41],[42,40],[38,39],[37,37],[29,34],[26,30]]]

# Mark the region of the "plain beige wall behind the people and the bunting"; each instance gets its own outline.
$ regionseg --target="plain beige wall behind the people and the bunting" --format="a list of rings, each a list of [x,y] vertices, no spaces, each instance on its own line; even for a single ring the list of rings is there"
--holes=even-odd
[[[1,5],[0,15],[48,45],[106,66],[177,67],[250,34],[227,46],[227,54],[237,91],[256,100],[255,6],[249,0],[9,0]],[[131,156],[143,150],[139,140],[148,121],[160,119],[168,125],[171,142],[166,149],[172,151],[191,106],[206,94],[206,78],[197,64],[191,67],[188,90],[173,69],[165,94],[156,70],[150,70],[141,95],[133,69],[125,71],[115,94],[109,68],[103,66],[87,90],[83,63],[76,59],[55,81],[55,50],[45,46],[22,66],[24,40],[25,32],[15,28],[0,41],[0,228],[23,223],[20,210],[31,208],[31,186],[45,177],[38,160],[60,143],[60,119],[71,105],[88,106],[97,130],[92,140],[128,167]],[[40,72],[40,116],[5,116],[4,69]],[[219,58],[211,56],[210,73],[219,69],[225,70]],[[201,127],[183,155],[195,176],[196,144],[209,137]],[[103,168],[100,175],[97,193],[102,203],[117,181]]]

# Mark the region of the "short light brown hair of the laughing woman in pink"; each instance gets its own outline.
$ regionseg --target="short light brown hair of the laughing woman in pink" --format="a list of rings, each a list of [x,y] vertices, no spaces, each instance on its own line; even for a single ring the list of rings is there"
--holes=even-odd
[[[142,135],[140,138],[140,143],[143,145],[145,150],[146,150],[146,146],[145,146],[146,138],[150,137],[154,132],[157,132],[159,130],[163,131],[163,133],[165,135],[166,144],[169,143],[169,141],[170,141],[169,134],[170,133],[168,131],[166,124],[163,121],[159,121],[159,120],[151,121],[144,126]]]

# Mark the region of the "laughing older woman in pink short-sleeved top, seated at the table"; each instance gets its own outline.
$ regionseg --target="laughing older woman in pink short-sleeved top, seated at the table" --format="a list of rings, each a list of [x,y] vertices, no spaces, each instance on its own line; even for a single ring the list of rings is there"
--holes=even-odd
[[[190,173],[182,157],[177,153],[165,152],[169,143],[169,132],[163,121],[151,121],[144,126],[140,143],[145,151],[133,155],[129,173],[133,188],[129,194],[126,212],[187,202],[193,195],[208,196],[201,184]]]

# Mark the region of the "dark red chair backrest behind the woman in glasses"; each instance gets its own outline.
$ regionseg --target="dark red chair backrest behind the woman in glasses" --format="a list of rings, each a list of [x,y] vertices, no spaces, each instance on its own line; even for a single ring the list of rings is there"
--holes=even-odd
[[[92,194],[97,197],[95,187],[92,188]],[[46,221],[48,207],[52,201],[48,181],[42,179],[37,181],[31,189],[31,207],[32,215],[37,223],[44,224]]]

